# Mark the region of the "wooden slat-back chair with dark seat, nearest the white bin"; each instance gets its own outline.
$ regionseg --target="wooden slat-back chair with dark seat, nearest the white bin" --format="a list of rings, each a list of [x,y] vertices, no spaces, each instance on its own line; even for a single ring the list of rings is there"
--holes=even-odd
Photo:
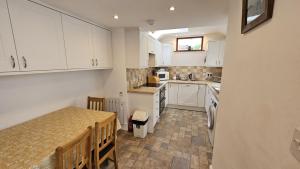
[[[118,161],[116,155],[116,138],[117,138],[117,116],[110,117],[104,122],[96,122],[95,124],[95,149],[94,164],[96,169],[100,169],[100,165],[113,155],[115,169],[118,169]],[[112,159],[111,159],[112,160]]]

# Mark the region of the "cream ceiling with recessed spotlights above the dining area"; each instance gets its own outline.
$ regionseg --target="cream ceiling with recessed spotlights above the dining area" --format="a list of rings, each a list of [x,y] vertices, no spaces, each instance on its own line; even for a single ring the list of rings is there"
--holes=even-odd
[[[227,0],[41,0],[107,27],[145,31],[227,24]],[[169,11],[175,6],[174,12]],[[113,16],[119,15],[119,20]],[[154,19],[150,26],[146,20]]]

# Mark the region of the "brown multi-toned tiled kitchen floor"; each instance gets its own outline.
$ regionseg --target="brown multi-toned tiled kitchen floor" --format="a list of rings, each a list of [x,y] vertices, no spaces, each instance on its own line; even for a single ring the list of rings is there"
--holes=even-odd
[[[212,149],[206,113],[168,109],[145,139],[118,136],[120,169],[208,169]],[[111,164],[107,168],[114,168]]]

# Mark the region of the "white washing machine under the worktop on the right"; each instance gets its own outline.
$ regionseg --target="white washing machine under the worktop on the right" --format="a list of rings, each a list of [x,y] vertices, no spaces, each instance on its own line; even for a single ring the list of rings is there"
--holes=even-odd
[[[218,100],[211,95],[209,98],[209,109],[207,111],[208,137],[212,146],[214,146],[215,127],[217,119]]]

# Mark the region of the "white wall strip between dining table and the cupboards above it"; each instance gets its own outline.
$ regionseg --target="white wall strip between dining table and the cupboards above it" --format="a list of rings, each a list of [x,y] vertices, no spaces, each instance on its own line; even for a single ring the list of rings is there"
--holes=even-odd
[[[0,77],[0,129],[103,96],[101,70]]]

